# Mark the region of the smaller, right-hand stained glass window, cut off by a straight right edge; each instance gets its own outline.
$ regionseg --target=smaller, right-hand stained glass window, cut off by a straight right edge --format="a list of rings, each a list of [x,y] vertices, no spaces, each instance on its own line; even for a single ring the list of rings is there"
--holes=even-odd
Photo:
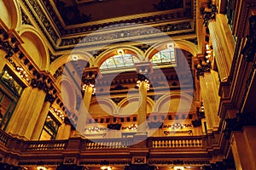
[[[155,64],[175,63],[175,49],[168,48],[154,54],[151,61]]]

